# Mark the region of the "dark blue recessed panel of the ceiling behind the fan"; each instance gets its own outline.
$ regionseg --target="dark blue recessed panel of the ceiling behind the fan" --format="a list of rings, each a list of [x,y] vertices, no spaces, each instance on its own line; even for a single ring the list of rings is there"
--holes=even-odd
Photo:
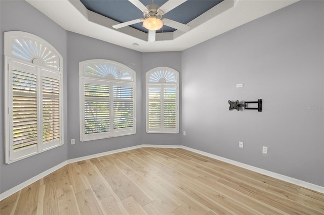
[[[152,1],[140,1],[145,6],[152,4]],[[223,0],[188,0],[166,15],[163,15],[163,18],[187,24],[222,1]],[[120,23],[144,18],[143,12],[127,0],[80,0],[80,2],[82,2],[88,10]],[[166,0],[155,0],[153,4],[162,6],[166,2]],[[142,26],[142,23],[131,25],[131,27],[146,33],[148,32],[147,29]],[[164,25],[163,28],[156,32],[173,32],[175,30],[176,29]]]

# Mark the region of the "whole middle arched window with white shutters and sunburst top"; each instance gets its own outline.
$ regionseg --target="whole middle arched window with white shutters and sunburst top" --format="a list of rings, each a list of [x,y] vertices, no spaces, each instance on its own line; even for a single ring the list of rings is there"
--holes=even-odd
[[[79,63],[80,141],[136,133],[135,71],[109,60]]]

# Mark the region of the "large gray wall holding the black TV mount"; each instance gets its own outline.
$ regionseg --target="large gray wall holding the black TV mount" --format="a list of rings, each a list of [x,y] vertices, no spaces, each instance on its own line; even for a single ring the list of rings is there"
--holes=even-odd
[[[182,144],[324,186],[323,11],[298,2],[183,51]]]

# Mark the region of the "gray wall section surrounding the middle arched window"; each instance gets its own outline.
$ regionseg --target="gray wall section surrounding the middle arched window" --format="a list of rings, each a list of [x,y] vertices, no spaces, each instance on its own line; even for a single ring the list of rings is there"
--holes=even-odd
[[[139,145],[142,142],[142,54],[140,52],[68,32],[68,159],[119,148]],[[136,134],[101,140],[80,142],[79,131],[79,62],[90,59],[107,59],[125,64],[136,72]]]

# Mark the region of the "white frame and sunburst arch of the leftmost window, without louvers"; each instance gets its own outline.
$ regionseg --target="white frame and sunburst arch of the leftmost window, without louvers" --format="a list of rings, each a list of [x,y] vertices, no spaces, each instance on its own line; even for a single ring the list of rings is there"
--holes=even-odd
[[[24,43],[25,42],[25,43]],[[36,35],[9,31],[4,33],[5,65],[5,154],[6,164],[58,147],[64,143],[63,128],[63,60],[60,53],[46,40]],[[37,142],[34,145],[14,149],[13,122],[13,71],[20,70],[36,76]],[[43,78],[59,83],[59,137],[43,142]],[[54,124],[53,124],[54,126]]]

